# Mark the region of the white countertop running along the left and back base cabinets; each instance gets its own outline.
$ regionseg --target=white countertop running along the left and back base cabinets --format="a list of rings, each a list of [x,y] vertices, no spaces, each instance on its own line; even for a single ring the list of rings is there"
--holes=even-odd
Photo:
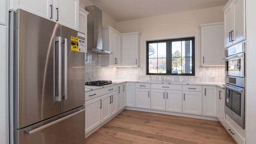
[[[170,82],[170,81],[156,81],[156,80],[112,80],[112,84],[108,84],[105,86],[85,86],[85,92],[89,92],[91,90],[97,90],[100,88],[106,88],[109,86],[114,86],[116,84],[122,84],[124,82],[141,82],[141,83],[154,83],[154,84],[182,84],[182,85],[204,85],[204,86],[218,86],[220,88],[224,88],[222,82]]]

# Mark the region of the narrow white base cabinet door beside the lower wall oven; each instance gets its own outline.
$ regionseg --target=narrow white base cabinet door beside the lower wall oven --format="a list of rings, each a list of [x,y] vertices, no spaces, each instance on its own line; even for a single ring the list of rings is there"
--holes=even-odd
[[[217,118],[224,125],[224,90],[222,88],[217,88]]]

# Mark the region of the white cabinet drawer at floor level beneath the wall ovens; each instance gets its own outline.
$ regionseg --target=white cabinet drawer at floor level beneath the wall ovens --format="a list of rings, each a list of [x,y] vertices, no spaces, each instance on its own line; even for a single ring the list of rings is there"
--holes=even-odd
[[[236,131],[236,129],[225,119],[225,127],[228,133],[238,144],[245,144],[245,139]]]

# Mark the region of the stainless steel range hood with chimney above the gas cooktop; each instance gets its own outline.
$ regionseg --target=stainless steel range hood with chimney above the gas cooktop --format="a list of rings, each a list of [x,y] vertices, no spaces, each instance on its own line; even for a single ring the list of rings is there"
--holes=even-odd
[[[114,54],[102,48],[102,11],[96,6],[87,6],[87,50],[93,54]]]

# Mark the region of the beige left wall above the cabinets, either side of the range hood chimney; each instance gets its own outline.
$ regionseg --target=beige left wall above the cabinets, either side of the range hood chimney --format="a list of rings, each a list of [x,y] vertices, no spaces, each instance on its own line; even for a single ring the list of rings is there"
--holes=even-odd
[[[80,0],[79,6],[85,8],[86,6],[94,5],[90,0]],[[112,28],[117,29],[117,22],[102,11],[102,26],[112,26]]]

